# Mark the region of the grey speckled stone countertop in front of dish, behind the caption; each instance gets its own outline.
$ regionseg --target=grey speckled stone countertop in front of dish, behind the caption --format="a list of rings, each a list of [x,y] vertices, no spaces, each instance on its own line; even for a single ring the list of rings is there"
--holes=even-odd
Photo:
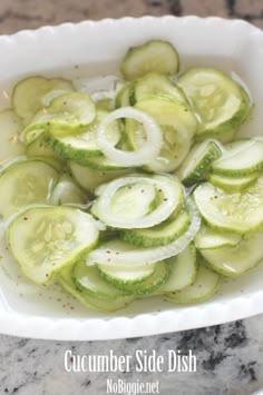
[[[221,326],[111,342],[46,342],[0,336],[0,394],[104,395],[108,373],[66,372],[65,352],[165,355],[193,350],[196,373],[114,373],[115,379],[159,381],[162,395],[249,395],[263,387],[263,315]]]

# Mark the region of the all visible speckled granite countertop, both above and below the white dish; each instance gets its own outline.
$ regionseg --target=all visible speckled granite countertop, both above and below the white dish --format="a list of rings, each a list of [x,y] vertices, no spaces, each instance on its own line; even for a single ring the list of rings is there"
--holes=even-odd
[[[263,28],[263,0],[1,0],[0,33],[65,21],[143,14],[244,18]],[[67,373],[66,349],[165,354],[192,349],[196,373],[116,373],[129,382],[159,381],[162,395],[247,395],[263,387],[263,316],[185,333],[115,342],[59,343],[0,336],[0,395],[104,395],[107,373]]]

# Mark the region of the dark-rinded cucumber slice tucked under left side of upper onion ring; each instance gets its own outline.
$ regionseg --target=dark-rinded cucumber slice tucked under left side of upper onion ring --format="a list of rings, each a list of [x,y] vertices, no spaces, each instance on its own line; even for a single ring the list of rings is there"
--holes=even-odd
[[[97,117],[85,132],[61,136],[60,130],[51,129],[47,135],[48,145],[61,157],[77,160],[86,165],[87,158],[103,155],[97,144],[97,129],[100,121],[108,115],[97,111]],[[117,121],[111,122],[107,129],[107,140],[117,145],[121,132]]]

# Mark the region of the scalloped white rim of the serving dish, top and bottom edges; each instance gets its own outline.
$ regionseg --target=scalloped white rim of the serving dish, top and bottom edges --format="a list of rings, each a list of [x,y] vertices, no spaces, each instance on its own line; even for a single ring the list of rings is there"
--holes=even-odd
[[[25,29],[11,34],[1,34],[2,41],[16,40],[21,36],[35,37],[60,29],[91,28],[94,26],[110,26],[115,23],[134,23],[135,21],[192,21],[198,23],[223,23],[244,26],[251,33],[263,31],[242,19],[225,19],[221,17],[174,17],[144,16],[138,18],[124,17],[118,19],[85,20],[77,23],[65,22],[57,26],[43,26],[37,29]],[[263,47],[263,46],[262,46]],[[0,290],[1,293],[1,290]],[[242,308],[240,306],[242,305]],[[118,316],[107,318],[53,318],[19,314],[11,310],[0,310],[0,333],[11,336],[22,336],[53,340],[108,340],[127,337],[150,336],[169,332],[186,330],[204,326],[218,325],[230,320],[241,319],[263,313],[263,289],[247,296],[238,296],[230,302],[214,302],[212,305],[199,304],[186,306],[176,310],[159,313],[139,313],[135,316]],[[194,317],[194,324],[193,324]],[[205,324],[204,324],[205,323]],[[207,324],[208,323],[208,324]]]

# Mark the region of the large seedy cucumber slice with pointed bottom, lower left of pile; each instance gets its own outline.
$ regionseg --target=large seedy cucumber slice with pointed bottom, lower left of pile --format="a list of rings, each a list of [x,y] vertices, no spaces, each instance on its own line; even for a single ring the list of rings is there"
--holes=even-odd
[[[77,208],[32,207],[17,216],[7,230],[8,248],[23,274],[47,284],[64,266],[95,247],[99,230],[94,218]]]

